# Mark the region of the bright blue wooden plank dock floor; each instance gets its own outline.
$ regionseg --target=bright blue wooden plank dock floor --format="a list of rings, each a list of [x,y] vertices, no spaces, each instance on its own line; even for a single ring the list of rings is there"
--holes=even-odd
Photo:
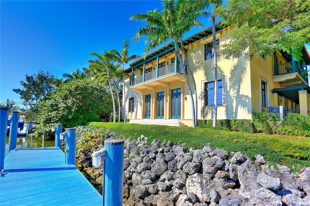
[[[0,177],[0,206],[102,206],[102,196],[58,147],[12,150]]]

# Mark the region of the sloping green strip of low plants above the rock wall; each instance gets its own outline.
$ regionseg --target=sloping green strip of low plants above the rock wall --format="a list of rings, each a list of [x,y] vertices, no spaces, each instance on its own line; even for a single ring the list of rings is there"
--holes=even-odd
[[[225,149],[228,152],[241,151],[254,159],[255,154],[261,154],[270,164],[281,164],[299,172],[310,162],[310,138],[245,134],[240,132],[219,131],[206,128],[169,127],[160,125],[139,125],[124,123],[91,122],[87,127],[107,127],[117,136],[138,138],[141,134],[153,139],[171,140],[174,144],[186,143],[186,148],[202,148],[211,143],[211,147]]]

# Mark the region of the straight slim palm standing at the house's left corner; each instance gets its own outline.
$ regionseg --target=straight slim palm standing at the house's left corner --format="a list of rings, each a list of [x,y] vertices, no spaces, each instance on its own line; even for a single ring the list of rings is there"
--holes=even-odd
[[[116,50],[113,50],[113,52],[115,54],[114,59],[123,66],[123,72],[122,72],[122,76],[123,76],[123,97],[125,96],[125,78],[124,78],[125,68],[124,68],[124,65],[127,64],[129,61],[141,58],[141,56],[137,55],[137,54],[128,56],[128,48],[129,48],[129,40],[125,39],[121,53],[119,53]],[[125,114],[125,105],[126,104],[125,103],[126,103],[126,100],[123,103],[124,123],[126,123],[126,114]],[[120,116],[120,113],[119,113],[119,116]]]

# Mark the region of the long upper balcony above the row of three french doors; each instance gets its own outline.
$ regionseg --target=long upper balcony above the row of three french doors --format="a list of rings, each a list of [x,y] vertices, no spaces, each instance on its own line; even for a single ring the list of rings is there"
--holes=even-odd
[[[142,91],[143,89],[154,89],[156,86],[168,86],[175,81],[185,81],[180,66],[175,67],[174,63],[158,68],[146,74],[134,78],[132,90]]]

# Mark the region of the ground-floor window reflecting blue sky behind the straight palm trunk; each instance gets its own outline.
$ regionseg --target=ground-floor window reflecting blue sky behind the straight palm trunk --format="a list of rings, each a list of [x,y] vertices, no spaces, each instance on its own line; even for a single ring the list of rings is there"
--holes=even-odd
[[[214,81],[204,83],[204,105],[214,105]],[[217,105],[223,105],[223,81],[217,80]]]

